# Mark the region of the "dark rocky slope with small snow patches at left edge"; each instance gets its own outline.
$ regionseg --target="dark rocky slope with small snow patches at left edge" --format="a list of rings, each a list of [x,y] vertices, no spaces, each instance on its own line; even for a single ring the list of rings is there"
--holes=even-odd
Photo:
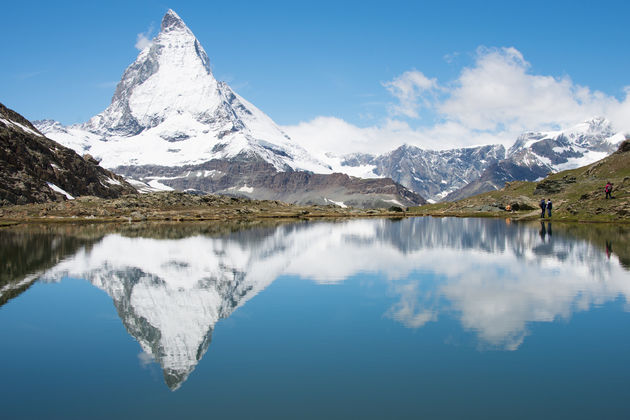
[[[134,194],[122,177],[94,158],[44,137],[28,120],[0,104],[0,205]]]

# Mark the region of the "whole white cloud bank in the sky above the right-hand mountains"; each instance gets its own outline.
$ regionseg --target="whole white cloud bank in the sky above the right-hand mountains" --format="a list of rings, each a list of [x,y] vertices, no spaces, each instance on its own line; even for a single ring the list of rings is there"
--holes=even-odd
[[[395,102],[389,104],[390,117],[379,125],[362,128],[318,117],[284,128],[307,149],[340,154],[382,153],[405,143],[429,149],[511,146],[524,131],[569,128],[594,116],[630,133],[630,86],[618,100],[568,76],[533,74],[513,47],[478,48],[473,65],[452,81],[438,82],[411,70],[383,86]],[[423,113],[436,122],[412,127]]]

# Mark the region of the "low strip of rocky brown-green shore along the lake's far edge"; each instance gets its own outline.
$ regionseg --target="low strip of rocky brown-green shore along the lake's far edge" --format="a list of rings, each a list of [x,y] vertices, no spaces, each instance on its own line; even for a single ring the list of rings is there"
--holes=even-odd
[[[219,195],[159,192],[117,199],[79,197],[75,200],[0,207],[0,227],[21,223],[111,223],[248,221],[261,219],[330,219],[364,217],[490,217],[511,220],[630,223],[626,197],[574,200],[557,197],[553,217],[540,218],[535,198],[522,194],[531,183],[515,182],[503,190],[454,203],[402,209],[342,208],[335,205],[295,205]],[[625,194],[624,194],[625,195]],[[555,198],[555,197],[554,197]],[[507,207],[507,206],[510,207]],[[512,209],[512,210],[506,210]],[[517,210],[513,210],[517,209]],[[576,211],[577,210],[577,211]]]

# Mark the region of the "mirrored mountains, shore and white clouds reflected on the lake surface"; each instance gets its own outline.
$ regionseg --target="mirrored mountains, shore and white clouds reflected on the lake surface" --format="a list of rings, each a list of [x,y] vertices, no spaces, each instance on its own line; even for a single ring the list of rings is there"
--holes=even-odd
[[[0,302],[35,279],[87,279],[113,299],[171,389],[195,369],[219,319],[279,276],[330,284],[376,273],[394,298],[386,317],[418,329],[448,314],[484,347],[507,350],[531,322],[630,295],[628,230],[613,225],[410,218],[220,233],[204,225],[51,229],[0,231]]]

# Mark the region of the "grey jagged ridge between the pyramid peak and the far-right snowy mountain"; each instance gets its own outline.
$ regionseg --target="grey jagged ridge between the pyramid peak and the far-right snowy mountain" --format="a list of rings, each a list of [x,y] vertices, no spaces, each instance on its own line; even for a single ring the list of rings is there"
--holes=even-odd
[[[451,150],[425,150],[403,145],[389,153],[344,156],[341,165],[363,168],[372,176],[388,177],[432,201],[439,201],[505,158],[501,145]],[[368,171],[366,171],[366,169]]]

